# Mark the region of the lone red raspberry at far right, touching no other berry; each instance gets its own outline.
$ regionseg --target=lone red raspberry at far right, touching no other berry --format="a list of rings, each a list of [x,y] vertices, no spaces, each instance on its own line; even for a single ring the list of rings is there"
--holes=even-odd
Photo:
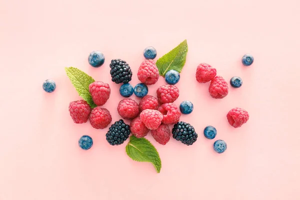
[[[249,113],[244,109],[235,107],[230,109],[230,111],[227,113],[227,119],[230,125],[237,128],[247,122],[249,119]]]

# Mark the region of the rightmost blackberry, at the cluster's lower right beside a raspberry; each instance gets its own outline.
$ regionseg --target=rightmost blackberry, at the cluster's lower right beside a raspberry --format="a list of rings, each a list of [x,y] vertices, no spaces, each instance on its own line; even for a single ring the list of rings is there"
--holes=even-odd
[[[195,142],[198,137],[193,126],[184,121],[175,123],[172,129],[172,133],[174,139],[180,140],[186,145],[193,144],[193,142]]]

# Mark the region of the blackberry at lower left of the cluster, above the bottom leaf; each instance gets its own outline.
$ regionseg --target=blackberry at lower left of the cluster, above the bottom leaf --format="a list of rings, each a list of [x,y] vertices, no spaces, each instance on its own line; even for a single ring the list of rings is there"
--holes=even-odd
[[[122,144],[129,136],[129,125],[124,123],[122,119],[115,121],[106,133],[106,140],[111,145]]]

